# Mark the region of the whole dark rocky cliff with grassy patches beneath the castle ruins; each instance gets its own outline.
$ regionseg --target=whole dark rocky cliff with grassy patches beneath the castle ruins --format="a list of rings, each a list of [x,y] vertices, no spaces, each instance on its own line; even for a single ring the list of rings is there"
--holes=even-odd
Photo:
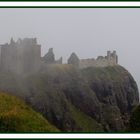
[[[61,131],[122,131],[139,102],[136,82],[121,66],[52,64],[28,77],[1,73],[0,89],[22,97]]]

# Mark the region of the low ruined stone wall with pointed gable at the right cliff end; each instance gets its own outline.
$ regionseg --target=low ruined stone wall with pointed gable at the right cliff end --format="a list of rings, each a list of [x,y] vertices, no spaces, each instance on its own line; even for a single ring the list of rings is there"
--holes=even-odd
[[[87,67],[106,67],[106,66],[114,66],[118,64],[118,56],[116,51],[112,53],[107,51],[107,56],[98,56],[97,59],[79,59],[75,53],[72,53],[70,58],[68,59],[68,64],[73,64],[78,68],[87,68]]]

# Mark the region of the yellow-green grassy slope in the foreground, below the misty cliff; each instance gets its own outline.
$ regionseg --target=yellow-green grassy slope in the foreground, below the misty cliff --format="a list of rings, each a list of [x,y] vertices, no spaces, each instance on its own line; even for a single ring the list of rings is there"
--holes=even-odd
[[[0,132],[57,132],[39,113],[18,98],[0,93]]]

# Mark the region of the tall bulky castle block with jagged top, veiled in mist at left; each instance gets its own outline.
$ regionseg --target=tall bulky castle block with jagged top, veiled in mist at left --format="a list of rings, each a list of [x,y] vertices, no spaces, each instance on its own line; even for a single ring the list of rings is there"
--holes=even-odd
[[[4,71],[18,74],[37,72],[41,64],[41,45],[36,38],[18,39],[1,45],[0,65]]]

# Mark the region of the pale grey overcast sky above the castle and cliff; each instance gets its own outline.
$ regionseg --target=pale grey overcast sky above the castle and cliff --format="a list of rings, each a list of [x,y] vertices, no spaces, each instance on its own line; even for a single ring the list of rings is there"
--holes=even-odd
[[[0,9],[0,44],[11,37],[36,37],[42,55],[52,47],[64,62],[72,52],[96,58],[116,50],[140,89],[140,8]]]

